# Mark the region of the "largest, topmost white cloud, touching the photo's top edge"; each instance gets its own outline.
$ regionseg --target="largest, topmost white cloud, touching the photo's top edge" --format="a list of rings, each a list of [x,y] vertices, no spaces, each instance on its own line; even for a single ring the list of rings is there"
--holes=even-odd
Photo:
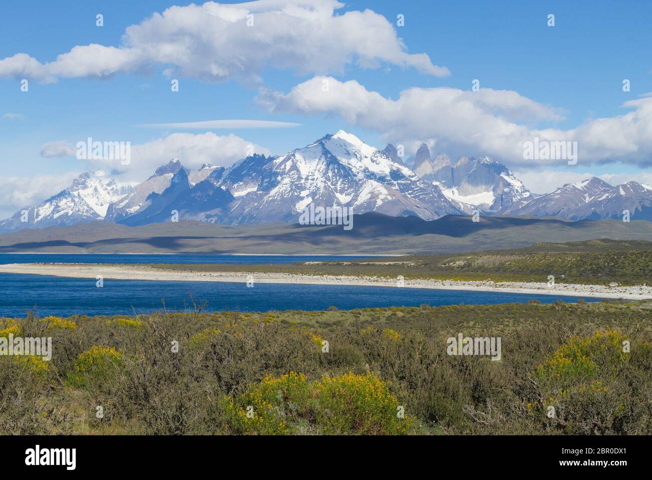
[[[102,78],[162,65],[168,75],[211,82],[259,82],[267,66],[299,74],[343,72],[351,63],[383,64],[446,76],[426,54],[408,54],[394,25],[372,10],[336,14],[336,0],[258,0],[170,7],[128,27],[121,45],[75,46],[41,63],[18,53],[0,59],[0,76],[55,82]]]

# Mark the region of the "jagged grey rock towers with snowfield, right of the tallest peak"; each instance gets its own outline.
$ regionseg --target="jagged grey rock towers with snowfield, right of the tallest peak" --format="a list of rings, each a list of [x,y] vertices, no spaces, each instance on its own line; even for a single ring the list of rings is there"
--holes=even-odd
[[[534,198],[509,168],[489,157],[461,157],[451,165],[449,157],[441,153],[432,159],[430,149],[422,144],[415,155],[414,170],[424,180],[439,185],[443,194],[466,213],[475,209],[503,213]]]

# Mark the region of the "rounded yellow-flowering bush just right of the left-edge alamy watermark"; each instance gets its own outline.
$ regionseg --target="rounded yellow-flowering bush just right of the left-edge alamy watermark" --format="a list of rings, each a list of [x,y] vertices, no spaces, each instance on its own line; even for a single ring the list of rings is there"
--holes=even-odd
[[[80,388],[101,385],[118,374],[124,364],[123,355],[115,348],[93,345],[75,360],[74,372],[68,373],[68,383]]]

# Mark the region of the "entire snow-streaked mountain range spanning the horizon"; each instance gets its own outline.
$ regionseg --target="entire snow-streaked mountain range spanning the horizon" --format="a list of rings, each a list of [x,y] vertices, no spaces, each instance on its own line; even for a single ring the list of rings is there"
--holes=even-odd
[[[426,144],[408,167],[393,145],[378,150],[338,131],[285,155],[252,155],[229,168],[197,170],[172,159],[139,185],[119,185],[104,172],[84,172],[41,204],[0,221],[0,232],[96,220],[130,227],[192,219],[239,225],[297,223],[309,204],[349,207],[424,220],[447,215],[561,217],[652,221],[652,186],[615,187],[597,177],[545,195],[531,193],[509,168],[489,157],[432,157]]]

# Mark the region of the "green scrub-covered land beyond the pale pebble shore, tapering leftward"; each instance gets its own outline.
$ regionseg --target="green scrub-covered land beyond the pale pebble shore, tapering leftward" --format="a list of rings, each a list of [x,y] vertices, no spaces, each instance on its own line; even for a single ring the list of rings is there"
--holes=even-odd
[[[462,281],[535,281],[584,285],[652,285],[652,242],[590,240],[537,244],[516,250],[449,255],[406,255],[294,264],[156,264],[171,270],[288,272],[307,275],[432,278]]]

